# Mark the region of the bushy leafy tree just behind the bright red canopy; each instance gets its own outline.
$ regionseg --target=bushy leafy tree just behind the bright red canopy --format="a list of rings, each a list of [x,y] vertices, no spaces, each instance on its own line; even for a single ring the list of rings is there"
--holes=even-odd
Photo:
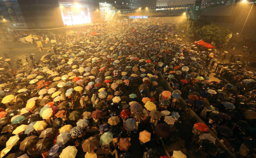
[[[208,43],[214,41],[218,47],[226,44],[232,37],[232,33],[228,28],[215,24],[204,25],[198,30],[197,34],[201,39]]]

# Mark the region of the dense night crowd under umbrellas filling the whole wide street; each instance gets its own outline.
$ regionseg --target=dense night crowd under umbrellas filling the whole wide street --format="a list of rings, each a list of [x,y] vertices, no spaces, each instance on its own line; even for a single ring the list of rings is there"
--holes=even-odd
[[[255,73],[170,28],[109,25],[28,71],[1,58],[0,157],[255,157]]]

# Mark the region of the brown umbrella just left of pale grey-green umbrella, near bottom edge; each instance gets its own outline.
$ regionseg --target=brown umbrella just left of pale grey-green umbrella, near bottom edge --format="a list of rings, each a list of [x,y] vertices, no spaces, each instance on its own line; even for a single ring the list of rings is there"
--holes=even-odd
[[[92,152],[99,147],[99,140],[96,137],[90,137],[84,140],[82,149],[84,152]]]

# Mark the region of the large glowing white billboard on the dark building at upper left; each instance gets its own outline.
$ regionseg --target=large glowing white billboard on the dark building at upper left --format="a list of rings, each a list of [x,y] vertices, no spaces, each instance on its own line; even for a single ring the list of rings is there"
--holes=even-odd
[[[91,23],[89,5],[86,4],[59,4],[63,23],[76,25]]]

